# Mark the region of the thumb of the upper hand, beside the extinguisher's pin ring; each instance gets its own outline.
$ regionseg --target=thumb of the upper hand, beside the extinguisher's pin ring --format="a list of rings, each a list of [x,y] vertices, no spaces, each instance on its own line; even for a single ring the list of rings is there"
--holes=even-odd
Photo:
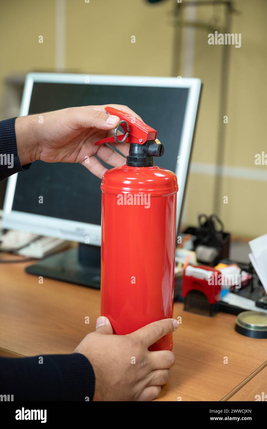
[[[86,109],[86,107],[73,107],[70,109],[71,126],[75,130],[85,128],[98,128],[98,130],[112,130],[119,125],[119,117],[108,115],[96,109]]]

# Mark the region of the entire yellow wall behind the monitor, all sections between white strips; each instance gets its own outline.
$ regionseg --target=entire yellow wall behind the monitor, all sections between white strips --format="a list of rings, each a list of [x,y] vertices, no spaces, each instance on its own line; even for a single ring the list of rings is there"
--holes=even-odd
[[[154,5],[145,0],[66,0],[66,71],[183,76],[184,27],[177,33],[176,73],[172,68],[175,4],[175,0]],[[266,172],[267,166],[255,166],[254,157],[266,147],[267,2],[237,0],[235,6],[240,15],[234,15],[231,32],[242,34],[242,46],[228,46],[231,59],[223,163]],[[3,79],[10,73],[54,70],[55,10],[55,0],[0,2],[0,93]],[[196,18],[210,22],[214,14],[218,15],[218,26],[222,25],[221,6],[199,7]],[[223,46],[208,45],[208,33],[201,28],[195,31],[193,76],[202,79],[204,88],[192,161],[214,165],[218,125],[223,120],[219,118]],[[38,43],[39,35],[44,36],[43,44]],[[131,36],[136,37],[136,43],[131,43]],[[198,213],[213,211],[214,176],[194,171],[187,187],[187,224],[196,224]],[[251,237],[266,233],[266,187],[266,181],[223,178],[219,212],[229,231]],[[223,196],[228,196],[228,204],[223,204]]]

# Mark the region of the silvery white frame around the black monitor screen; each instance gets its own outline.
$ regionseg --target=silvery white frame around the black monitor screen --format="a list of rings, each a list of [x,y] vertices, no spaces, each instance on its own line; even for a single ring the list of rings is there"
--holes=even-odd
[[[181,218],[184,190],[195,129],[196,115],[201,89],[200,79],[165,78],[147,76],[107,76],[107,75],[77,75],[65,73],[29,73],[25,79],[21,101],[20,116],[29,112],[30,99],[34,82],[71,83],[84,85],[121,85],[121,86],[152,86],[164,88],[188,88],[187,105],[181,133],[179,152],[182,162],[177,163],[176,175],[179,191],[177,194],[177,227]],[[65,240],[84,243],[89,236],[92,245],[101,245],[101,226],[83,222],[67,221],[49,216],[34,215],[12,210],[16,181],[18,174],[9,177],[3,208],[3,228],[24,230],[44,236],[53,236]]]

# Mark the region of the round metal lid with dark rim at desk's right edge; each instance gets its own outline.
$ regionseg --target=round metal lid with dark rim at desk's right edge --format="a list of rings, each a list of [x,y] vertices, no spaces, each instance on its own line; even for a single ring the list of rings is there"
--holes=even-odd
[[[267,338],[267,313],[243,311],[235,320],[235,330],[251,338]]]

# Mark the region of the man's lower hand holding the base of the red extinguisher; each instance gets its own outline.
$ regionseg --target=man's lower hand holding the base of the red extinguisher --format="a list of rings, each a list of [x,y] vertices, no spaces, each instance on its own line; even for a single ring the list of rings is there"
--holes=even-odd
[[[81,341],[74,353],[84,354],[95,372],[94,401],[152,401],[160,394],[175,363],[171,351],[148,351],[155,341],[178,328],[164,319],[129,335],[113,335],[107,317],[98,317],[97,329]],[[135,363],[134,363],[135,362]]]

